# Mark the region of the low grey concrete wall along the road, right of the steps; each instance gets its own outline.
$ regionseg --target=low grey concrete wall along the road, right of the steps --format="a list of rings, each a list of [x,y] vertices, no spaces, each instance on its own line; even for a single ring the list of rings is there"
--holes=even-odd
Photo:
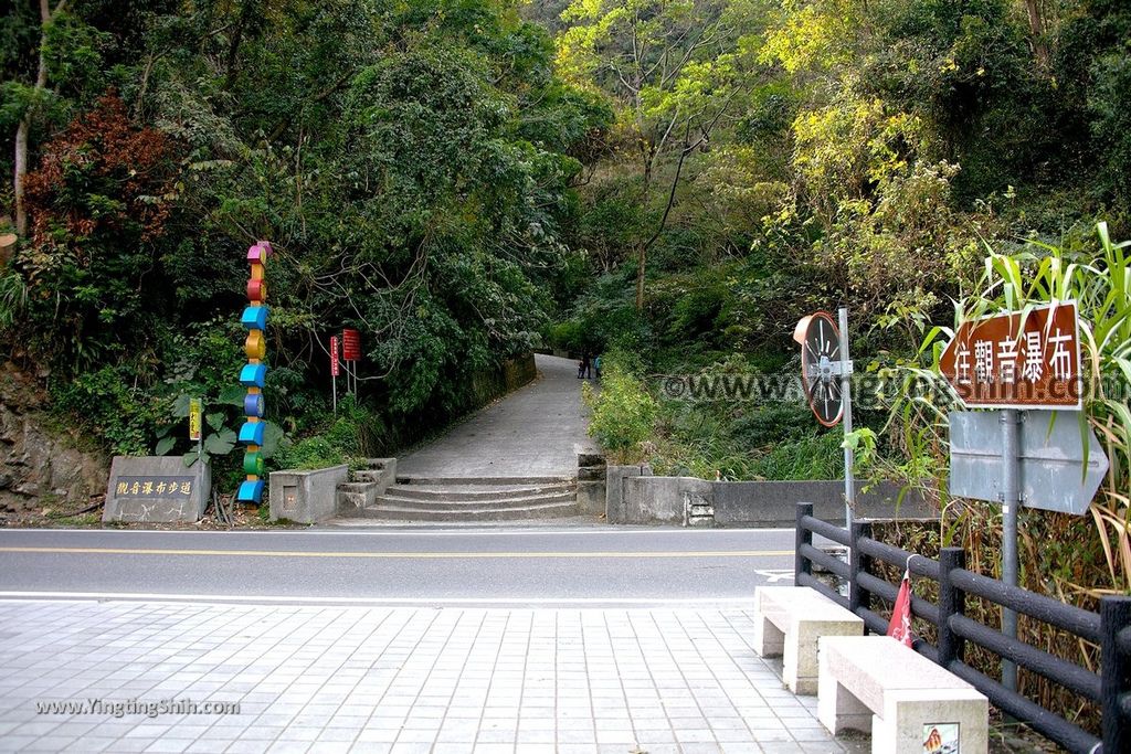
[[[899,487],[880,485],[857,493],[858,518],[930,518],[922,497],[908,494],[897,508]],[[813,503],[817,518],[844,521],[844,483],[707,482],[655,477],[648,467],[611,466],[605,514],[610,523],[667,523],[706,527],[793,526],[796,504]]]

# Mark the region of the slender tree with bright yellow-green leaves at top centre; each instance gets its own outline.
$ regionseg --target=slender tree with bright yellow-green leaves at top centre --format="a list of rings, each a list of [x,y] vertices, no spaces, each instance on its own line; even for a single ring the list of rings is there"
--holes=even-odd
[[[559,36],[559,69],[616,102],[619,138],[649,216],[650,227],[633,242],[637,309],[648,252],[671,217],[687,161],[707,148],[743,86],[727,10],[701,0],[576,0],[562,12],[569,28]]]

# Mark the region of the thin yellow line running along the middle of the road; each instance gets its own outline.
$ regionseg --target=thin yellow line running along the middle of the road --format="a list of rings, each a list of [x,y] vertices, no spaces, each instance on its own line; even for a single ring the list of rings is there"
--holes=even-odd
[[[793,555],[792,549],[729,549],[710,552],[641,552],[641,553],[320,553],[286,549],[131,549],[128,547],[0,547],[0,553],[44,553],[57,555],[192,555],[231,557],[378,557],[378,558],[473,558],[473,557],[770,557]]]

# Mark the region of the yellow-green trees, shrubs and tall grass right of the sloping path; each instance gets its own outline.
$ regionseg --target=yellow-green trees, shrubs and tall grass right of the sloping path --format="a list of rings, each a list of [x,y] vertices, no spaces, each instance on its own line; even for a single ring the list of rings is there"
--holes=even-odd
[[[616,111],[575,235],[593,278],[546,330],[606,354],[597,437],[661,473],[839,476],[840,428],[819,428],[791,392],[789,336],[804,314],[847,305],[857,369],[888,380],[856,405],[857,470],[938,503],[916,549],[959,543],[994,574],[1000,508],[946,497],[944,406],[900,387],[936,371],[946,331],[933,326],[1070,297],[1090,373],[1131,384],[1131,270],[1111,241],[1131,237],[1131,3],[536,5],[532,17],[561,9],[562,73]],[[720,383],[733,389],[702,388]],[[1131,589],[1125,395],[1096,393],[1083,413],[1112,459],[1091,515],[1024,514],[1024,583],[1089,608]],[[1095,660],[1038,625],[1022,632]],[[1095,722],[1052,686],[1022,673],[1022,692]]]

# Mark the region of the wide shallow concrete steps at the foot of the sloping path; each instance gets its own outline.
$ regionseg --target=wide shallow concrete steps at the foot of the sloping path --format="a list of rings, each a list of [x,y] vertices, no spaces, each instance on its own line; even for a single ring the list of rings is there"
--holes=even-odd
[[[364,471],[361,473],[364,475]],[[396,521],[506,521],[578,515],[571,477],[397,477],[379,485],[357,478],[339,495],[364,495],[356,515]],[[373,484],[373,487],[369,487]],[[369,495],[372,494],[372,501]]]

